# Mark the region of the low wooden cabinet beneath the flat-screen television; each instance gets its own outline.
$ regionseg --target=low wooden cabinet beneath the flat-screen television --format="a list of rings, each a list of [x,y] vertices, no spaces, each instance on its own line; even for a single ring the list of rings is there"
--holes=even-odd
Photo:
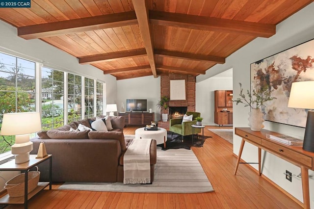
[[[155,121],[155,113],[149,112],[119,112],[119,116],[124,116],[124,124],[127,125],[149,125]]]

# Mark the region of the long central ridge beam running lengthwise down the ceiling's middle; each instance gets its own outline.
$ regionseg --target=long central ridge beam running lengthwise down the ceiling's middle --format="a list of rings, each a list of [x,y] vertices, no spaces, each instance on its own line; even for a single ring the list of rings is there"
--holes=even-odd
[[[146,6],[146,0],[132,0],[139,29],[141,31],[143,43],[147,52],[148,61],[152,69],[154,78],[157,78],[154,48],[151,39],[151,33],[148,20],[148,8]]]

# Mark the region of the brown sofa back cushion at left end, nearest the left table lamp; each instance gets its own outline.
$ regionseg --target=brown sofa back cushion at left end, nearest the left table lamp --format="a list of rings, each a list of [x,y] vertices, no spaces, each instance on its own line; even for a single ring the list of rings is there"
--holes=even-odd
[[[49,130],[47,135],[52,139],[88,139],[88,132],[86,131],[59,131]]]

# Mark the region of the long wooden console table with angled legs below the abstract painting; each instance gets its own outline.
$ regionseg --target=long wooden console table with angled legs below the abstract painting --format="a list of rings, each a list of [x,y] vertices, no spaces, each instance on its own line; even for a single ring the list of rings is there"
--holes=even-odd
[[[235,175],[240,163],[244,143],[249,142],[258,147],[259,175],[261,175],[262,149],[301,168],[304,208],[310,209],[309,169],[314,170],[314,153],[303,150],[302,146],[289,146],[266,138],[266,134],[274,133],[276,132],[263,129],[261,131],[251,131],[250,128],[235,128],[235,134],[242,137],[235,165]]]

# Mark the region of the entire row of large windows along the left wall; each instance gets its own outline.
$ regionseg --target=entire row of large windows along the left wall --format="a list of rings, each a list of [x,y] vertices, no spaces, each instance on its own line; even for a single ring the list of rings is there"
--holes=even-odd
[[[0,53],[0,128],[3,114],[9,112],[41,111],[42,130],[104,114],[103,82],[36,66],[36,62]],[[36,72],[41,78],[35,77]],[[38,94],[36,86],[41,86]],[[0,154],[10,151],[14,143],[14,136],[0,136]]]

